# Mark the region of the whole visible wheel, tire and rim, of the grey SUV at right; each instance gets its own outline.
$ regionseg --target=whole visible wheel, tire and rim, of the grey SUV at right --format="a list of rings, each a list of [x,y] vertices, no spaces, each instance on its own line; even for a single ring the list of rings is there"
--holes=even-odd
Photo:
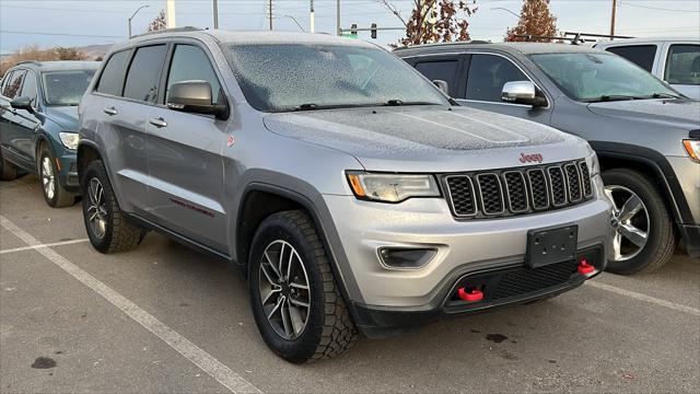
[[[614,258],[607,270],[630,275],[661,268],[677,243],[661,193],[643,174],[629,169],[606,171],[603,182],[614,204]]]

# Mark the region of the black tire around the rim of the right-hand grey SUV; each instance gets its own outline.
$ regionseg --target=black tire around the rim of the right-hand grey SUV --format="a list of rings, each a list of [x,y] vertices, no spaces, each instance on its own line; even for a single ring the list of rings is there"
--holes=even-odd
[[[606,270],[631,275],[651,273],[663,267],[674,254],[677,237],[662,193],[645,175],[630,169],[603,172],[603,183],[606,186],[623,186],[635,193],[646,207],[649,217],[648,239],[643,248],[627,260],[609,260]]]

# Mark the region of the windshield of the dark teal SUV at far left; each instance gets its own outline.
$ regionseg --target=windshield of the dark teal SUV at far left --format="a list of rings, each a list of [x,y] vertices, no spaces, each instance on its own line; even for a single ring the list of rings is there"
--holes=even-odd
[[[43,72],[46,105],[78,105],[94,74],[95,70]]]

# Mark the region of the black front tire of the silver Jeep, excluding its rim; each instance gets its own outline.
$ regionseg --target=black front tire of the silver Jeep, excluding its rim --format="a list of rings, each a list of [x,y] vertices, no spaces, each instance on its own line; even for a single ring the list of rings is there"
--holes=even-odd
[[[285,339],[275,331],[260,296],[262,254],[268,245],[279,241],[298,252],[308,279],[306,326],[294,339]],[[287,361],[303,363],[340,356],[354,345],[358,332],[338,291],[323,243],[305,212],[283,211],[265,219],[253,240],[249,262],[253,314],[262,339],[275,354]]]

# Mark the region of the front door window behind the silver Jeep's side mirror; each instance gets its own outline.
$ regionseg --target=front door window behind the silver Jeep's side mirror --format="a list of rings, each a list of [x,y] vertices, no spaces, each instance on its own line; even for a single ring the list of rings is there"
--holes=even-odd
[[[173,83],[194,80],[209,82],[212,102],[220,103],[220,100],[223,99],[220,97],[221,83],[219,83],[207,54],[195,45],[178,44],[175,46],[175,53],[171,60],[165,97],[167,97]]]

